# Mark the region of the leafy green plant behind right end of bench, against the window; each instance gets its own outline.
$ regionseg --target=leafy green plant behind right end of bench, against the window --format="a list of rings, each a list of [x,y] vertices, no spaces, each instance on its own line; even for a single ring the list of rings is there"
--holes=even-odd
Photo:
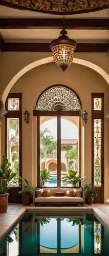
[[[72,185],[72,187],[75,187],[76,184],[81,181],[84,180],[88,177],[84,176],[84,177],[79,177],[78,176],[78,172],[76,170],[68,170],[68,174],[63,174],[63,184],[66,186],[67,184]]]

